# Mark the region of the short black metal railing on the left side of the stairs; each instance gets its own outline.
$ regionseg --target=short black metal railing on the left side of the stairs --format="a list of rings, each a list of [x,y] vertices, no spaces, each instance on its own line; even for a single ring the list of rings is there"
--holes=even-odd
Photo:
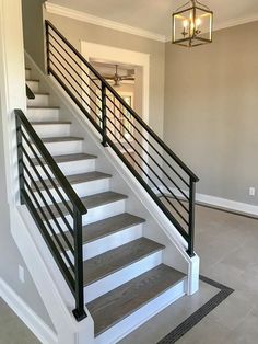
[[[24,113],[21,110],[15,110],[14,113],[21,204],[26,204],[72,291],[75,299],[73,314],[80,321],[86,317],[83,296],[82,216],[87,209]],[[50,186],[42,172],[47,176]],[[58,198],[66,211],[59,205]]]

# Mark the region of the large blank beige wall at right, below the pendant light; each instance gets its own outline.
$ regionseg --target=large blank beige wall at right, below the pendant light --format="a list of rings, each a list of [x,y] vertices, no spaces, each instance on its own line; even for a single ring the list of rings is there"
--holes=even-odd
[[[166,44],[165,141],[200,176],[198,191],[249,204],[258,195],[258,22],[211,45]]]

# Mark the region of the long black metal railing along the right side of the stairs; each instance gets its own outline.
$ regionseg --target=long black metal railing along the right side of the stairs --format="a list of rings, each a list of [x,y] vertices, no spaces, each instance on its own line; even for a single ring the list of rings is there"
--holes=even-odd
[[[196,174],[46,21],[47,69],[146,190],[194,253]]]

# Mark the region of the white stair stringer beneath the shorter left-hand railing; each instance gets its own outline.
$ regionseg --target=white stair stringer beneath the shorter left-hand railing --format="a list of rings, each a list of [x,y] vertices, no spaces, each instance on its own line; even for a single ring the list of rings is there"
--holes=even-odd
[[[27,325],[43,344],[94,344],[93,319],[86,308],[87,317],[83,321],[79,323],[74,319],[74,299],[26,207],[13,209],[13,222],[12,237],[48,310],[56,334],[49,342],[40,336],[43,329]]]

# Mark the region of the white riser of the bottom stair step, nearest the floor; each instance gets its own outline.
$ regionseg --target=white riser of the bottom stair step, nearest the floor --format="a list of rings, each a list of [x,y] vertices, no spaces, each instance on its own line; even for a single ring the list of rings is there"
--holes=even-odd
[[[174,303],[185,293],[185,280],[179,282],[168,290],[164,291],[136,312],[119,321],[117,324],[98,335],[95,344],[115,344],[118,343],[126,335],[138,329],[144,322],[153,318],[155,314],[164,310],[169,305]]]

